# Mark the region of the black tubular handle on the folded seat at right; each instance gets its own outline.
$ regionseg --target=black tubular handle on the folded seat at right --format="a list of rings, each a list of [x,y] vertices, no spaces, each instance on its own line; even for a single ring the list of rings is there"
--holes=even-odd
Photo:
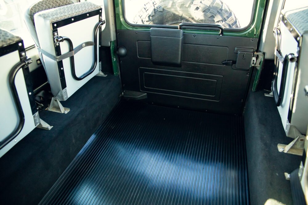
[[[279,94],[278,94],[278,89],[277,89],[279,63],[275,67],[274,78],[273,78],[273,83],[272,83],[272,92],[273,92],[274,100],[275,100],[277,107],[279,107],[282,104],[283,97],[284,97],[284,94],[285,94],[286,79],[287,79],[289,63],[290,62],[292,63],[292,62],[295,62],[295,61],[297,61],[297,58],[295,57],[295,55],[293,53],[286,55],[284,60],[283,60]]]

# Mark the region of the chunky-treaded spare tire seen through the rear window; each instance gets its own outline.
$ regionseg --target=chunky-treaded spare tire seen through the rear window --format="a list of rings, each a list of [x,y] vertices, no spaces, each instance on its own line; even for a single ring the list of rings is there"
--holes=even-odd
[[[134,18],[135,24],[178,25],[182,22],[240,28],[233,12],[220,0],[150,0]]]

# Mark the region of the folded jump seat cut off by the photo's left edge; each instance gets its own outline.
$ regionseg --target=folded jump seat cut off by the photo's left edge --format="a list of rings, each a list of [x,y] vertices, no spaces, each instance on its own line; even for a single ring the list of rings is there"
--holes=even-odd
[[[0,29],[0,157],[41,122],[23,41]]]

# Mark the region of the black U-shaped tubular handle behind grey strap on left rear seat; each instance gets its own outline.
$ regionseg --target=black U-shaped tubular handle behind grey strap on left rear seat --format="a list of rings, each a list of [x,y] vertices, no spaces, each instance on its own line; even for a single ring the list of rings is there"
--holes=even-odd
[[[89,71],[87,73],[84,73],[83,75],[81,75],[80,77],[78,77],[76,75],[76,71],[75,71],[75,60],[74,60],[74,56],[71,56],[70,57],[70,63],[71,63],[71,73],[72,73],[72,76],[75,80],[77,81],[81,81],[82,79],[84,79],[85,77],[89,76],[91,73],[93,73],[93,71],[95,70],[96,68],[96,64],[97,64],[97,31],[98,31],[98,28],[99,26],[102,26],[103,24],[105,24],[106,22],[105,21],[99,21],[95,27],[94,27],[94,31],[93,31],[93,41],[94,41],[94,47],[93,47],[93,51],[94,51],[94,59],[93,59],[93,64],[91,66],[91,68],[89,69]],[[62,37],[62,36],[58,36],[58,37],[55,37],[55,42],[56,43],[60,43],[60,42],[63,42],[63,41],[67,41],[68,44],[69,44],[69,52],[73,51],[74,50],[74,46],[73,46],[73,43],[71,41],[70,38],[68,37]]]

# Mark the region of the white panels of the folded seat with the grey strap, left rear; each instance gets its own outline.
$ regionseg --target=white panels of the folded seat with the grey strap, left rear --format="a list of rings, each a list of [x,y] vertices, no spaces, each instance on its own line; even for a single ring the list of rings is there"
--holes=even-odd
[[[104,12],[102,18],[103,20],[105,19]],[[39,15],[35,15],[34,19],[41,49],[45,50],[46,52],[52,55],[55,55],[55,48],[54,48],[55,42],[53,40],[54,38],[51,29],[51,22],[49,20],[40,17]],[[67,26],[58,28],[58,35],[69,37],[75,48],[76,46],[82,44],[83,42],[94,40],[93,30],[95,24],[98,21],[99,21],[99,16],[96,15],[78,22],[71,23]],[[103,30],[105,26],[106,25],[104,24],[101,29]],[[101,29],[99,29],[98,34],[101,31]],[[97,35],[97,42],[99,42],[99,35]],[[68,43],[66,41],[60,43],[60,48],[62,54],[69,52]],[[99,46],[97,46],[97,51],[99,51]],[[98,55],[97,59],[99,59],[99,52],[97,52],[97,55]],[[45,55],[43,56],[44,56],[43,59],[46,66],[48,80],[51,86],[51,92],[54,96],[56,96],[60,91],[62,91],[58,65],[56,61],[51,60]],[[92,66],[93,46],[88,46],[81,49],[78,53],[74,55],[74,58],[75,58],[76,75],[81,76],[83,73],[86,73]],[[87,81],[89,81],[92,77],[94,77],[97,73],[99,73],[99,62],[97,62],[95,71],[81,81],[77,81],[72,77],[71,64],[69,58],[63,60],[63,69],[67,84],[67,98],[69,98],[81,86],[83,86]]]

